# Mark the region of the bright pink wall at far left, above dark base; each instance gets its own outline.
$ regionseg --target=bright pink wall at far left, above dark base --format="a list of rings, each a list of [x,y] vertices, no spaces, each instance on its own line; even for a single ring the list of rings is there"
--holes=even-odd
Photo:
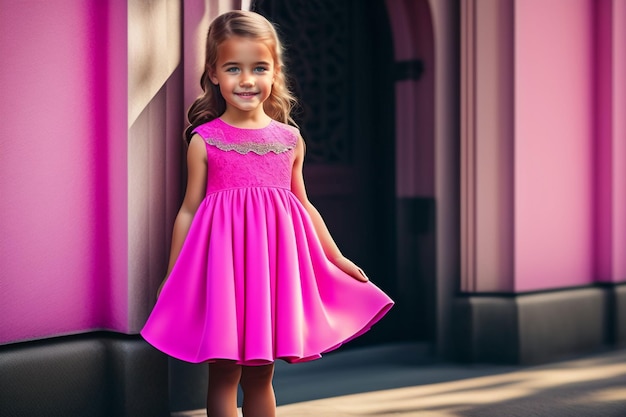
[[[126,4],[1,7],[0,343],[125,331]]]

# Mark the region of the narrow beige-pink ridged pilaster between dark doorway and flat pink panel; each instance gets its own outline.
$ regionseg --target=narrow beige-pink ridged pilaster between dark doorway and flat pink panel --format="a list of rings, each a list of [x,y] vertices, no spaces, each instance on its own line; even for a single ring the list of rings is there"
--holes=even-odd
[[[461,3],[461,289],[513,290],[513,2]]]

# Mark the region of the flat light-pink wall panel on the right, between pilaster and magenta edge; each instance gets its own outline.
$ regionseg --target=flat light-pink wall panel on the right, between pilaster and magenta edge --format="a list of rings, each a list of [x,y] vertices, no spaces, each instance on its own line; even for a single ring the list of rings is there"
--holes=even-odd
[[[592,0],[515,2],[515,290],[593,281]]]

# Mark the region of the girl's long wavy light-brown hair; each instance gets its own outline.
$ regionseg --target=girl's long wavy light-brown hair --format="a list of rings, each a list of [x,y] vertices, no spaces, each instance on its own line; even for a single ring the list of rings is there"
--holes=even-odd
[[[218,16],[209,26],[204,72],[200,78],[200,85],[204,93],[196,99],[187,112],[187,118],[191,124],[185,130],[187,142],[191,140],[192,131],[196,127],[218,118],[226,110],[226,101],[220,93],[219,86],[211,82],[209,75],[215,71],[218,47],[222,42],[234,36],[263,42],[270,50],[274,59],[274,67],[280,71],[276,73],[272,92],[263,103],[263,108],[272,119],[297,126],[291,116],[296,99],[287,86],[283,47],[278,39],[276,29],[260,14],[234,10]]]

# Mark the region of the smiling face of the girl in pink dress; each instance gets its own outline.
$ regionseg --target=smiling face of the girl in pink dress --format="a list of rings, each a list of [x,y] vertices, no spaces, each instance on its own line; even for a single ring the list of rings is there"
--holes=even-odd
[[[269,48],[254,39],[232,37],[217,48],[211,73],[226,100],[226,112],[255,117],[263,114],[263,102],[272,92],[274,59]]]

